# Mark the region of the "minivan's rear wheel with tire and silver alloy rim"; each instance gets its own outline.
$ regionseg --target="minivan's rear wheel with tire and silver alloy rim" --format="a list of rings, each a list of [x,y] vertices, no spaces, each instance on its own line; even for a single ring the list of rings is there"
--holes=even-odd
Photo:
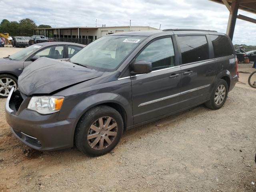
[[[210,100],[205,105],[210,109],[221,108],[228,97],[228,84],[225,80],[220,79],[212,91]]]

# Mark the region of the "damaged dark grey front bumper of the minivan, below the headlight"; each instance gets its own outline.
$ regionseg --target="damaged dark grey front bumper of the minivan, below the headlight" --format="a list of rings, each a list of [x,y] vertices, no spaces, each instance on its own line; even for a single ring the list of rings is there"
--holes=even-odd
[[[36,150],[51,151],[73,146],[75,119],[57,120],[58,112],[41,115],[29,110],[30,98],[25,98],[17,106],[14,104],[15,100],[20,102],[17,92],[11,90],[5,107],[6,121],[16,138]]]

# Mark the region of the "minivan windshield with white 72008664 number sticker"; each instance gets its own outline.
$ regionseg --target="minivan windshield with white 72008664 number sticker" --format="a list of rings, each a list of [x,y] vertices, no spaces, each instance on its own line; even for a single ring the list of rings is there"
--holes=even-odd
[[[70,62],[99,71],[113,71],[146,37],[104,36],[75,54]]]

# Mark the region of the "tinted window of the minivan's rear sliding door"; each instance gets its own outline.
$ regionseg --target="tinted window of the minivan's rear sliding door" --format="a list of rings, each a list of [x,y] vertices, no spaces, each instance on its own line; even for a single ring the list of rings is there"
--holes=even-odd
[[[179,36],[182,64],[209,59],[206,36]]]

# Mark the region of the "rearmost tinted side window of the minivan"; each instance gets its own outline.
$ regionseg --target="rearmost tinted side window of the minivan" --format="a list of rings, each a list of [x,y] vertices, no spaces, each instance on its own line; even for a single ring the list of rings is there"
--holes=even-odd
[[[214,58],[225,57],[234,54],[232,44],[226,36],[210,35],[214,50]]]

